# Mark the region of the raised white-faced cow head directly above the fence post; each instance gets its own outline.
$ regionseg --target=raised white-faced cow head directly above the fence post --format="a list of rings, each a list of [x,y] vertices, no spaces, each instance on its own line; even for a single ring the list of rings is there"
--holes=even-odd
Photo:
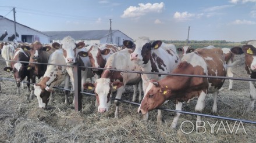
[[[81,57],[88,56],[87,52],[81,51],[79,53],[76,53],[77,49],[83,48],[84,46],[84,42],[75,43],[74,39],[70,36],[66,36],[65,38],[63,38],[61,47],[63,49],[63,56],[68,65],[73,65],[74,63],[76,63],[77,55]]]

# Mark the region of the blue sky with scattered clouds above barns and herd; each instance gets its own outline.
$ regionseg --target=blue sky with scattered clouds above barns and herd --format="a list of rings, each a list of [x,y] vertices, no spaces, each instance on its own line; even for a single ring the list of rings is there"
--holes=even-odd
[[[256,0],[0,0],[0,15],[39,31],[120,30],[133,39],[256,39]]]

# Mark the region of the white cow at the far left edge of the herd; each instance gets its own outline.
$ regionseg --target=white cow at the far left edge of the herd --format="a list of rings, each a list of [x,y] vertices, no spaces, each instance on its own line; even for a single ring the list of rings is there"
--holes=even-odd
[[[4,43],[2,46],[2,57],[5,60],[11,60],[14,56],[15,53],[15,48],[13,47],[13,45],[9,44],[9,43]],[[5,61],[6,62],[6,66],[10,67],[10,61]]]

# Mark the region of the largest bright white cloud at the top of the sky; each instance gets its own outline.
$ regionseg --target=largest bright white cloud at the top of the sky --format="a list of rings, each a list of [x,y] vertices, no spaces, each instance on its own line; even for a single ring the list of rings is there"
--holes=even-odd
[[[127,17],[140,17],[143,16],[149,12],[162,12],[164,3],[138,3],[138,7],[136,6],[130,6],[125,11],[123,11],[122,18]]]

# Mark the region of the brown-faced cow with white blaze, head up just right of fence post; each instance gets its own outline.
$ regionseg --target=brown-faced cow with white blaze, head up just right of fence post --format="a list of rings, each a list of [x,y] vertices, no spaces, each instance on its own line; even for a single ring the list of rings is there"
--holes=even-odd
[[[87,46],[87,49],[91,67],[93,67],[92,70],[94,73],[94,79],[98,79],[100,78],[103,70],[95,68],[104,68],[108,57],[111,56],[111,54],[118,52],[118,46],[108,43],[105,43],[101,46],[92,44]]]

